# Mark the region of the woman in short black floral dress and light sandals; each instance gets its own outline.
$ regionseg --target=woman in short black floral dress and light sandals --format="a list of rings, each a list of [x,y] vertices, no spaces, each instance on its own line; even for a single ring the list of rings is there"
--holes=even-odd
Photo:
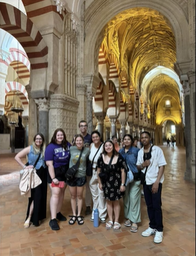
[[[98,184],[107,201],[108,223],[106,229],[114,231],[121,228],[119,223],[120,202],[125,191],[126,164],[121,154],[116,152],[112,141],[105,141],[103,144],[103,154],[98,159]],[[113,221],[114,212],[114,221]]]

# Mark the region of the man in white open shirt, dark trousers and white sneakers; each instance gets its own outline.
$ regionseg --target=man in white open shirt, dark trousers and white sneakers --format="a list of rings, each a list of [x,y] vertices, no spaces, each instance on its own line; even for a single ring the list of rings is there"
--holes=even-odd
[[[164,168],[166,160],[163,151],[158,146],[153,146],[150,152],[150,133],[143,131],[140,134],[143,144],[138,152],[137,169],[145,173],[145,183],[143,184],[145,203],[150,219],[149,227],[142,232],[142,236],[155,235],[154,242],[159,244],[163,241],[163,215],[161,209],[161,191],[164,181]],[[150,156],[148,154],[151,154]],[[147,168],[147,169],[146,169]]]

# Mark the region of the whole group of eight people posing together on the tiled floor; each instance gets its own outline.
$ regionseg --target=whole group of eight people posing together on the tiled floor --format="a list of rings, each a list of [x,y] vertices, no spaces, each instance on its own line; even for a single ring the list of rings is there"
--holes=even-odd
[[[124,202],[124,226],[130,231],[137,232],[138,223],[141,222],[141,184],[140,173],[145,173],[143,190],[145,202],[150,219],[149,227],[142,232],[142,236],[155,234],[154,242],[163,240],[163,216],[161,210],[161,190],[164,180],[163,171],[166,160],[161,148],[153,146],[150,150],[150,133],[144,131],[140,134],[142,149],[134,145],[130,134],[125,134],[122,140],[123,147],[116,145],[116,136],[112,140],[101,141],[101,134],[93,131],[88,134],[88,124],[85,120],[79,123],[80,134],[72,139],[70,144],[61,128],[54,131],[51,142],[46,146],[43,135],[38,133],[33,139],[33,144],[23,149],[15,156],[15,160],[22,168],[32,168],[38,154],[41,157],[35,168],[42,183],[35,189],[29,198],[27,216],[24,227],[30,223],[39,226],[41,220],[46,218],[47,181],[51,189],[50,210],[51,220],[49,226],[52,230],[59,230],[58,220],[67,218],[61,213],[64,202],[64,191],[69,188],[71,197],[72,215],[69,215],[69,225],[84,223],[82,216],[82,200],[85,190],[85,214],[91,213],[90,220],[94,220],[94,210],[98,209],[101,223],[106,223],[106,229],[113,228],[119,231],[119,215],[121,211],[120,199]],[[137,139],[137,142],[139,139]],[[151,158],[146,156],[151,152]],[[24,165],[22,157],[28,157]],[[80,159],[79,159],[80,158]],[[77,172],[72,180],[65,178],[69,168],[79,161]],[[147,160],[148,159],[148,160]],[[92,173],[87,176],[87,168]],[[127,184],[127,170],[132,170],[134,181]],[[91,202],[93,208],[91,210]],[[108,215],[108,221],[106,217]]]

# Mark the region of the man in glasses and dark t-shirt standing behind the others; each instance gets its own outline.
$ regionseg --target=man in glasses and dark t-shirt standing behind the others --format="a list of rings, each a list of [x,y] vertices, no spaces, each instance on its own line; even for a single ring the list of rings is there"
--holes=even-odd
[[[79,123],[79,129],[80,129],[80,134],[84,137],[84,142],[85,146],[90,147],[90,144],[92,142],[90,134],[87,132],[88,129],[88,124],[85,120],[81,120]],[[74,136],[75,137],[75,136]],[[74,143],[74,138],[72,139],[72,144]],[[90,192],[90,187],[89,187],[89,181],[90,181],[90,176],[87,176],[87,183],[85,183],[85,205],[86,205],[86,210],[85,210],[85,215],[89,215],[91,213],[91,202],[92,202],[92,195]]]

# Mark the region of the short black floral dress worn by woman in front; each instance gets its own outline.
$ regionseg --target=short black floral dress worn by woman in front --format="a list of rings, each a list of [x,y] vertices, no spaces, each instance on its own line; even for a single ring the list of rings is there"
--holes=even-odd
[[[102,155],[98,158],[98,168],[101,168],[101,172],[106,172],[107,178],[103,183],[103,193],[107,200],[116,201],[122,198],[120,186],[122,183],[122,169],[126,170],[126,164],[121,154],[119,154],[118,160],[114,165],[108,167],[103,162]]]

